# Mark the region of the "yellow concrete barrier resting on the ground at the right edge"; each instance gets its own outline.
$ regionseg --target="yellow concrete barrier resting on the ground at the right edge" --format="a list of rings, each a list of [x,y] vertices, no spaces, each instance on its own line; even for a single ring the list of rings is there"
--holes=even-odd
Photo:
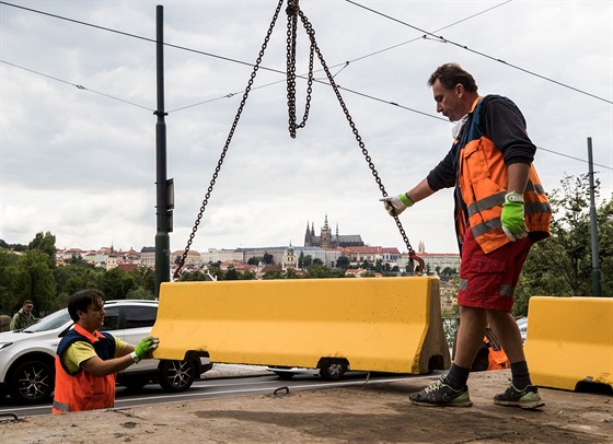
[[[531,297],[524,351],[536,385],[613,387],[613,299]]]

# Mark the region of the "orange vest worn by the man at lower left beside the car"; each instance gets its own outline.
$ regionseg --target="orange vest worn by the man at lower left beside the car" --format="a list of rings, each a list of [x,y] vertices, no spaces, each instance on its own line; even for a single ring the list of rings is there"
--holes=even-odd
[[[61,362],[61,354],[77,341],[91,343],[103,360],[115,357],[115,338],[112,335],[100,331],[91,335],[76,325],[74,329],[61,339],[56,354],[54,413],[105,409],[115,405],[115,374],[96,376],[83,370],[71,374]]]

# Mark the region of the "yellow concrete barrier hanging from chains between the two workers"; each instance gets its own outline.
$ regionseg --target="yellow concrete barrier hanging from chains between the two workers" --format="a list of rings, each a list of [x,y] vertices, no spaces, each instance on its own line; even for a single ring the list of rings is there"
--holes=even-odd
[[[427,373],[450,365],[438,279],[174,282],[160,290],[158,359]]]

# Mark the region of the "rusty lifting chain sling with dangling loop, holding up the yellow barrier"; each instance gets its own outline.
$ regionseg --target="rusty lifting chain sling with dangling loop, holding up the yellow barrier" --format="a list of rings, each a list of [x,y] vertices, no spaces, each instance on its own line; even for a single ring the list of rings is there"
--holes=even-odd
[[[245,91],[243,93],[243,97],[241,100],[241,104],[239,105],[239,109],[236,112],[236,115],[234,117],[234,121],[232,122],[232,127],[230,128],[230,132],[228,133],[228,139],[225,140],[225,144],[223,147],[223,150],[221,151],[221,155],[217,162],[217,166],[215,168],[215,173],[212,175],[212,178],[210,180],[209,187],[207,189],[207,192],[205,195],[205,198],[203,200],[203,205],[200,206],[200,211],[198,212],[198,215],[196,218],[196,221],[194,222],[194,227],[192,229],[192,233],[189,234],[189,238],[187,241],[187,245],[185,246],[185,250],[183,252],[183,255],[181,256],[181,258],[178,259],[178,264],[177,264],[177,268],[174,272],[173,279],[177,279],[181,270],[183,268],[183,266],[185,265],[185,259],[187,258],[187,254],[189,253],[189,248],[192,246],[192,243],[194,242],[194,237],[196,236],[196,231],[198,230],[198,226],[200,224],[200,221],[203,219],[203,215],[205,213],[206,207],[208,205],[210,195],[212,192],[212,189],[215,187],[215,184],[217,182],[217,177],[219,176],[219,172],[221,171],[221,165],[223,164],[223,160],[225,159],[225,154],[228,152],[228,148],[230,147],[230,142],[232,141],[232,137],[234,136],[234,130],[236,129],[236,126],[239,124],[239,120],[241,118],[241,114],[243,113],[243,108],[245,106],[246,100],[248,97],[248,94],[251,92],[251,89],[253,86],[253,82],[255,80],[255,77],[257,75],[257,70],[259,69],[259,65],[262,63],[262,59],[264,58],[264,52],[268,46],[268,42],[270,39],[270,35],[273,34],[273,30],[275,27],[275,24],[277,22],[277,19],[279,17],[279,12],[281,10],[281,7],[284,4],[285,0],[279,0],[279,3],[277,4],[277,9],[275,10],[275,14],[273,15],[273,20],[270,22],[270,26],[268,27],[268,31],[266,32],[266,37],[264,38],[264,43],[262,44],[262,48],[259,50],[259,55],[256,59],[256,62],[253,67],[253,71],[251,73],[250,80],[247,82],[247,86],[245,87]],[[375,167],[374,167],[374,163],[372,162],[368,150],[366,149],[365,143],[362,142],[362,139],[358,132],[358,129],[356,128],[356,125],[354,124],[354,119],[351,118],[351,116],[349,115],[349,110],[347,109],[347,106],[345,105],[345,101],[343,101],[343,97],[340,95],[340,91],[338,90],[338,86],[336,85],[333,75],[329,72],[329,69],[320,51],[320,48],[317,47],[317,43],[315,42],[315,32],[313,30],[313,26],[311,25],[311,23],[309,22],[309,20],[307,19],[307,16],[302,13],[302,11],[300,10],[299,5],[298,5],[298,1],[299,0],[288,0],[288,7],[286,9],[286,13],[288,15],[288,25],[287,25],[287,100],[288,100],[288,113],[289,113],[289,133],[290,137],[293,139],[296,138],[296,130],[299,128],[303,128],[304,125],[307,124],[307,119],[309,118],[309,110],[311,108],[311,93],[313,91],[312,86],[313,86],[313,59],[314,59],[314,54],[317,54],[317,58],[320,59],[320,62],[322,63],[322,67],[326,73],[326,77],[329,81],[329,84],[332,85],[334,93],[336,94],[336,97],[338,98],[338,102],[340,104],[340,106],[343,107],[343,112],[345,113],[345,117],[347,118],[347,121],[349,122],[349,126],[351,127],[351,131],[354,132],[354,136],[356,137],[356,140],[362,151],[362,154],[366,157],[366,161],[368,162],[368,166],[372,173],[372,175],[374,176],[374,180],[377,182],[377,185],[379,186],[379,189],[381,190],[381,194],[383,195],[383,197],[388,197],[388,192],[385,191],[385,187],[383,186],[383,184],[381,183],[381,178],[379,177],[379,173],[377,172]],[[310,45],[310,56],[309,56],[309,75],[308,75],[308,81],[307,81],[307,104],[304,107],[304,116],[302,118],[302,121],[297,125],[297,120],[296,120],[296,43],[297,43],[297,26],[298,26],[298,16],[300,15],[300,20],[302,22],[302,25],[304,26],[304,30],[307,31],[308,35],[309,35],[309,39],[311,42]],[[415,250],[413,249],[413,247],[410,246],[410,243],[408,242],[408,237],[406,235],[406,232],[404,231],[404,227],[398,219],[397,215],[394,217],[394,221],[396,222],[396,226],[398,227],[398,231],[404,239],[404,243],[406,244],[406,247],[408,249],[408,255],[412,261],[417,261],[418,266],[415,268],[415,272],[420,273],[424,269],[424,260],[418,257],[415,253]]]

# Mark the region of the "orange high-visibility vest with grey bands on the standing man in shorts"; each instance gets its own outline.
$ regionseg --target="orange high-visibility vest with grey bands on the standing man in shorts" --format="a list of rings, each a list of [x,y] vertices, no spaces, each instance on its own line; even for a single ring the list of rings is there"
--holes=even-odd
[[[478,97],[469,114],[464,136],[459,147],[459,187],[466,206],[469,224],[484,253],[511,242],[502,231],[500,214],[507,191],[508,173],[500,150],[485,135],[481,125],[483,97]],[[550,235],[552,209],[541,179],[530,165],[528,186],[523,192],[524,221],[530,236],[541,241]],[[456,218],[456,231],[464,234],[463,218]]]

